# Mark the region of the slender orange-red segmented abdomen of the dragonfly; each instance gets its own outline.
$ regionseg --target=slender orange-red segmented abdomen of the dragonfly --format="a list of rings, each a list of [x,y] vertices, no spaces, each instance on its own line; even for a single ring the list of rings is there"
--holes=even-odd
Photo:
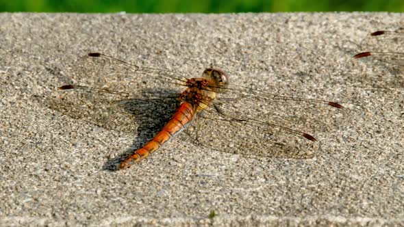
[[[177,133],[182,131],[184,127],[192,120],[194,117],[194,107],[191,103],[184,102],[179,105],[177,111],[167,124],[163,127],[162,131],[157,133],[153,139],[151,139],[142,148],[135,150],[127,159],[123,160],[119,165],[120,169],[129,168],[132,163],[141,161],[142,159],[148,157],[153,152],[157,151],[163,144],[168,142]]]

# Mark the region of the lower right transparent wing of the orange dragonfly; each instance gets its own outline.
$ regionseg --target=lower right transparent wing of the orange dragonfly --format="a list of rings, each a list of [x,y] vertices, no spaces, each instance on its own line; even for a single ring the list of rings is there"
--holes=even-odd
[[[207,113],[188,127],[186,133],[194,144],[237,155],[293,159],[313,157],[318,150],[319,143],[305,137],[215,115]]]

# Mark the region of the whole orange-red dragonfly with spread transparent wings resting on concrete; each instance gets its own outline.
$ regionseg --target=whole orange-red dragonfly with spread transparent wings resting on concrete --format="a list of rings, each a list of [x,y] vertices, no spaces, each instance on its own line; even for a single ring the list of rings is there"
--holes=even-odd
[[[121,170],[149,157],[180,134],[193,144],[233,154],[292,159],[310,157],[310,151],[318,149],[318,141],[300,128],[315,120],[307,121],[304,116],[297,116],[299,112],[312,109],[312,113],[309,112],[312,115],[322,109],[327,112],[344,108],[323,99],[282,96],[231,83],[227,72],[214,67],[203,70],[201,77],[188,78],[177,70],[144,67],[103,53],[88,53],[82,62],[75,66],[78,69],[74,75],[82,81],[91,78],[89,83],[99,83],[101,88],[73,83],[62,85],[58,88],[61,93],[57,103],[52,103],[53,108],[74,113],[69,115],[75,118],[97,124],[102,122],[101,126],[105,128],[119,125],[117,128],[121,131],[133,131],[135,126],[127,119],[149,119],[150,123],[161,116],[168,119],[149,142],[131,149],[129,155],[119,161],[117,167]],[[87,76],[82,77],[83,73]],[[108,77],[99,77],[104,73],[108,73]],[[131,92],[118,92],[123,89]],[[277,104],[288,102],[298,103],[292,116],[263,109],[264,106],[272,107],[275,112]],[[171,116],[155,117],[155,103],[176,104]],[[268,120],[271,116],[276,119]],[[288,123],[293,119],[303,126],[294,129],[297,123],[291,126]]]

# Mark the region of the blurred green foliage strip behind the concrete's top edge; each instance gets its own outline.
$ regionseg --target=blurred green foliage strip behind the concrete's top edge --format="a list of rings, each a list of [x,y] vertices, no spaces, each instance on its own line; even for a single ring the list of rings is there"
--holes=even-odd
[[[404,12],[404,0],[0,0],[1,12]]]

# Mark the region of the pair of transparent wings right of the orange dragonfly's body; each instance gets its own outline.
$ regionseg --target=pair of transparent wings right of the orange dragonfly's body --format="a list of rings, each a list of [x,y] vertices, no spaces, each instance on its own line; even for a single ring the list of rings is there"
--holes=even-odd
[[[304,159],[320,146],[311,133],[327,133],[338,124],[329,124],[338,110],[321,105],[327,101],[228,91],[192,122],[186,131],[191,141],[233,154]]]

